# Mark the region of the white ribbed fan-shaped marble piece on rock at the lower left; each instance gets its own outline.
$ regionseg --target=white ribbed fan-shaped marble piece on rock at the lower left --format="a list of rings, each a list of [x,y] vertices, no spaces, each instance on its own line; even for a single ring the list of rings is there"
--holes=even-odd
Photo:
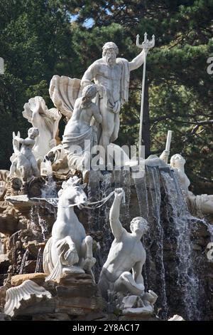
[[[50,292],[28,279],[21,285],[11,287],[6,291],[4,313],[13,317],[27,307],[51,298]]]

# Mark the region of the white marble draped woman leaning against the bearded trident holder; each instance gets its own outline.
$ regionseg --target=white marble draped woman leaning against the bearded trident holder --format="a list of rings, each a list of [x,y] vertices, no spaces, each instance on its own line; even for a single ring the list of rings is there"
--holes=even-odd
[[[62,145],[68,154],[70,170],[84,170],[86,160],[90,160],[90,148],[97,144],[97,132],[91,125],[92,118],[102,123],[102,115],[92,99],[97,95],[95,85],[86,86],[82,97],[77,98],[72,117],[68,121],[63,135]],[[80,150],[76,148],[80,147]]]

